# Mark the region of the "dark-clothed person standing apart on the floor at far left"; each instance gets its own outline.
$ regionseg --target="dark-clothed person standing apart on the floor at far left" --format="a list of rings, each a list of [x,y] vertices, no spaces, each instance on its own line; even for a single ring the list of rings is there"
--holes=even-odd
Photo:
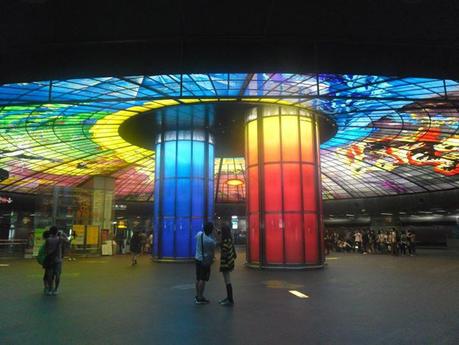
[[[49,228],[50,237],[45,242],[46,258],[43,264],[48,290],[45,294],[57,295],[62,272],[62,252],[65,244],[69,243],[63,232],[58,232],[57,227]],[[54,288],[53,288],[54,286]]]

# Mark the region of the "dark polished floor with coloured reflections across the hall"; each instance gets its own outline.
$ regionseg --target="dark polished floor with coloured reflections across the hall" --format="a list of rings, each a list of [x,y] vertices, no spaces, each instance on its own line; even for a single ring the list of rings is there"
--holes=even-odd
[[[332,253],[303,272],[252,270],[243,258],[232,308],[217,303],[217,267],[211,303],[197,306],[190,264],[66,262],[61,294],[48,297],[35,261],[2,259],[0,344],[459,344],[459,253]]]

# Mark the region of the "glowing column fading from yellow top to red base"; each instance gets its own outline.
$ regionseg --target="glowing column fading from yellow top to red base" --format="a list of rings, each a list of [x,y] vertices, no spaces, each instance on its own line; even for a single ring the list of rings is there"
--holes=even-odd
[[[324,262],[319,141],[303,109],[259,106],[246,120],[247,261],[258,267]]]

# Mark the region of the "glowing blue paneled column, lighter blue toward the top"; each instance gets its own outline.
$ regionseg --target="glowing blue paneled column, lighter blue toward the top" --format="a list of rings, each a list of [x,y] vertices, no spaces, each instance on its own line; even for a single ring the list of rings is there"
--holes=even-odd
[[[206,130],[172,130],[158,136],[155,159],[153,256],[189,260],[195,235],[214,212],[214,145]]]

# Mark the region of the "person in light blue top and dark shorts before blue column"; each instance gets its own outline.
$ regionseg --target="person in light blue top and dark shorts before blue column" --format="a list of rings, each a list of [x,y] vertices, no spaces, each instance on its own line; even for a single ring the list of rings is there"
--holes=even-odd
[[[214,225],[207,223],[204,232],[196,234],[196,304],[207,304],[209,300],[204,297],[206,282],[209,281],[210,267],[214,260],[216,242],[212,237]]]

